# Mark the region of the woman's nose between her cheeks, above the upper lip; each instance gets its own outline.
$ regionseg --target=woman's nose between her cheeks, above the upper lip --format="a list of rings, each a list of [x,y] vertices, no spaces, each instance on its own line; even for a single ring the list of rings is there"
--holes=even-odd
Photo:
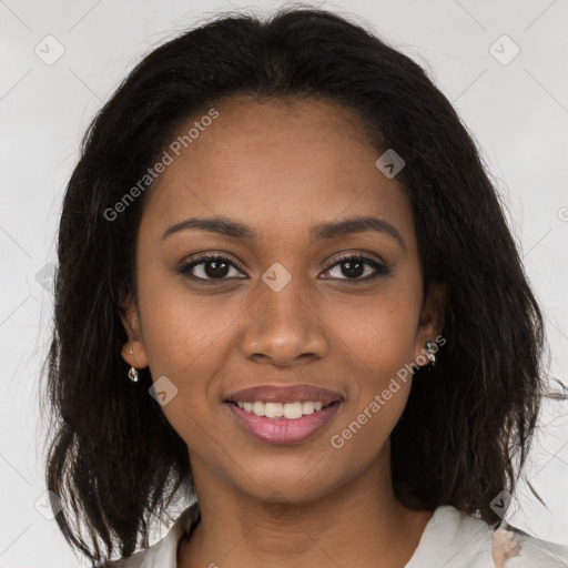
[[[264,282],[246,313],[241,351],[246,358],[276,367],[324,357],[329,329],[318,314],[314,294],[294,278],[278,292]]]

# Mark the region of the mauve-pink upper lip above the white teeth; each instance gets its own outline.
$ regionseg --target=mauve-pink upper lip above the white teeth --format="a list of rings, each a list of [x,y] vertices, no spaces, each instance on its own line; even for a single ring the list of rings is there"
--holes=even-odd
[[[331,404],[335,400],[342,400],[343,395],[337,390],[329,390],[313,385],[258,385],[242,390],[231,393],[225,402],[233,403],[254,403],[262,400],[265,403],[304,403],[307,400],[322,402]]]

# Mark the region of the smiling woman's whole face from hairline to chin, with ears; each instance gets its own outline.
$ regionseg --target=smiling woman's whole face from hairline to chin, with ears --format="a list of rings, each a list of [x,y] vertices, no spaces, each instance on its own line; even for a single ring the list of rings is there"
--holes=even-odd
[[[197,489],[314,498],[385,455],[402,369],[440,331],[437,292],[423,295],[410,202],[357,115],[316,100],[216,110],[148,195],[123,357],[150,367]],[[225,223],[189,221],[211,217]]]

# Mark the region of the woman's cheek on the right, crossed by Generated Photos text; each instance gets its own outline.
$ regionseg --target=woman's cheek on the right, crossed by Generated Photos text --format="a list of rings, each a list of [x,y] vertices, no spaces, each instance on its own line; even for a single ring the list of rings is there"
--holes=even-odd
[[[354,459],[364,446],[381,448],[406,406],[419,300],[415,284],[393,281],[381,294],[335,306],[332,325],[351,372],[351,402],[342,420],[346,429],[336,434],[339,445],[353,439],[347,452]]]

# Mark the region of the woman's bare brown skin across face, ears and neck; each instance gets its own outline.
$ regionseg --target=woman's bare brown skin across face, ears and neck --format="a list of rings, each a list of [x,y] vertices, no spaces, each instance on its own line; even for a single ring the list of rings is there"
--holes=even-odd
[[[376,168],[382,152],[351,110],[245,97],[215,108],[219,118],[148,195],[138,296],[122,314],[124,359],[178,388],[162,409],[187,444],[202,511],[180,544],[179,566],[403,567],[433,515],[403,507],[392,487],[389,435],[412,381],[341,449],[331,437],[440,334],[443,293],[423,294],[410,201]],[[195,230],[162,239],[187,217],[214,215],[250,225],[257,239]],[[318,223],[359,215],[388,221],[404,244],[372,230],[310,239]],[[204,252],[235,263],[221,284],[176,272]],[[346,254],[390,272],[363,282],[375,273],[365,264],[349,277],[338,264]],[[291,275],[280,292],[262,280],[275,262]],[[192,274],[206,278],[206,267]],[[236,389],[295,383],[344,397],[332,422],[301,444],[254,439],[223,403]]]

